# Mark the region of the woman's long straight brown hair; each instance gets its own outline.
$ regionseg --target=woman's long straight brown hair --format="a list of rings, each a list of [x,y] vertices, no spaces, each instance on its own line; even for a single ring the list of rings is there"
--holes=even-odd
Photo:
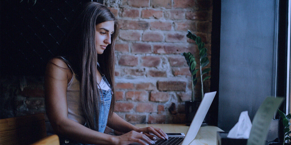
[[[103,54],[97,54],[95,48],[95,26],[106,21],[114,21],[114,32],[111,44]],[[77,79],[80,81],[80,94],[85,119],[89,128],[98,131],[98,102],[100,99],[97,88],[97,61],[101,72],[112,86],[112,99],[108,118],[112,116],[115,107],[114,91],[114,44],[119,33],[119,26],[115,16],[104,5],[96,2],[85,4],[84,10],[75,21],[72,31],[66,37],[62,55],[70,62]],[[95,120],[95,121],[94,121]]]

